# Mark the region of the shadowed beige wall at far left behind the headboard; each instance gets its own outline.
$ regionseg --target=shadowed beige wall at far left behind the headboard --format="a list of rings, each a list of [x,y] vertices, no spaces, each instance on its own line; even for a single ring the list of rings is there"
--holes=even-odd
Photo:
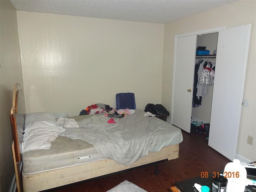
[[[0,1],[0,192],[10,190],[14,178],[10,108],[15,83],[22,82],[16,10]],[[21,112],[25,109],[20,108]]]

